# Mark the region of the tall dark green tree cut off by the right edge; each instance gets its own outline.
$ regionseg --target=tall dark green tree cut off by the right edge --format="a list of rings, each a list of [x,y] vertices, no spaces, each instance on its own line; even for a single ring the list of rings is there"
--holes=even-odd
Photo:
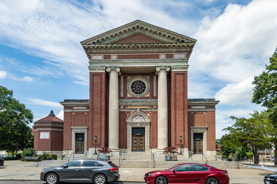
[[[272,123],[277,125],[277,47],[265,71],[255,76],[252,84],[255,84],[252,102],[266,107]]]

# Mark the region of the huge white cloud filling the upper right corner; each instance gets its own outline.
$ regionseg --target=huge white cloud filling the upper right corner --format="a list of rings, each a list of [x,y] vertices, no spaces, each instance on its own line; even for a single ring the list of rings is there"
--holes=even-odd
[[[230,3],[220,16],[205,17],[193,35],[190,67],[229,83],[260,74],[276,47],[275,7],[275,0]]]

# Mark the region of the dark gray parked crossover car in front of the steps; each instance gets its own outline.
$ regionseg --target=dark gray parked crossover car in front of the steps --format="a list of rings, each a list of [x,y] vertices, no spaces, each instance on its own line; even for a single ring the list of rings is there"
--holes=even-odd
[[[59,181],[106,182],[119,180],[119,168],[106,160],[73,160],[60,166],[49,167],[41,171],[41,181],[56,184]]]

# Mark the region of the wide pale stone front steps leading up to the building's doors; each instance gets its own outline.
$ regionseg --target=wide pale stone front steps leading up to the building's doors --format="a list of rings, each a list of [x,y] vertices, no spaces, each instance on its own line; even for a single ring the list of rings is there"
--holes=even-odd
[[[70,158],[69,158],[70,157]],[[74,160],[77,159],[96,159],[96,155],[84,155],[84,154],[75,154]],[[121,168],[169,168],[172,166],[175,166],[180,163],[199,163],[199,164],[205,164],[208,162],[208,165],[214,166],[218,169],[237,169],[238,164],[234,161],[221,161],[216,160],[215,156],[207,156],[205,155],[206,159],[203,156],[202,161],[202,155],[192,155],[189,158],[186,156],[178,155],[178,161],[165,161],[164,155],[157,155],[154,153],[154,159],[153,154],[151,153],[145,153],[145,152],[132,152],[132,153],[122,153],[121,159],[119,160],[119,155],[112,155],[110,156],[110,160],[116,164],[117,166]],[[69,160],[73,160],[73,155],[65,155],[62,160],[51,160],[51,161],[40,161],[38,162],[38,167],[54,167],[62,165],[63,163],[67,162]],[[154,162],[155,160],[155,162]],[[28,165],[28,167],[36,167],[36,163]],[[239,164],[240,169],[249,169],[248,166],[244,166],[242,164]]]

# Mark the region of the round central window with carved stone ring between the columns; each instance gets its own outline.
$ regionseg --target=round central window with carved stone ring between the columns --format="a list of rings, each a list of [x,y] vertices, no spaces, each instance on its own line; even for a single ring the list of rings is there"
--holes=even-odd
[[[127,91],[134,97],[143,97],[147,95],[149,89],[149,80],[142,75],[135,75],[128,80]]]

